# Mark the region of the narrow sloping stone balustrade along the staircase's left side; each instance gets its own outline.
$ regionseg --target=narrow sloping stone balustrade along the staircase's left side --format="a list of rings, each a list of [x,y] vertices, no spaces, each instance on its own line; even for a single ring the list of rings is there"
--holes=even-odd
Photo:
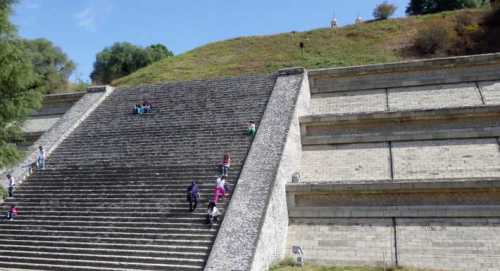
[[[43,146],[50,159],[50,154],[67,138],[89,115],[92,113],[106,97],[112,92],[113,88],[109,86],[94,87],[92,92],[88,92],[81,97],[71,109],[27,150],[26,158],[13,168],[7,169],[18,182],[22,182],[29,176],[29,165],[36,161],[38,146]],[[5,178],[1,178],[0,184],[7,187]]]

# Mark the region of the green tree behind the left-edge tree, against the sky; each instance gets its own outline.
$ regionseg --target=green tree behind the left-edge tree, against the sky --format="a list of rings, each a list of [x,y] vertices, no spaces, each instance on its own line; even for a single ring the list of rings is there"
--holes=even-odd
[[[49,40],[23,40],[23,43],[45,93],[67,91],[68,79],[75,70],[75,63]]]

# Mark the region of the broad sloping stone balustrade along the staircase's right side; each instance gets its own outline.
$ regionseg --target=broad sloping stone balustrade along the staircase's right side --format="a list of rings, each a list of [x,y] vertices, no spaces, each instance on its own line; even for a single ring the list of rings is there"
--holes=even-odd
[[[285,254],[285,184],[300,161],[298,110],[309,101],[302,69],[278,75],[205,270],[266,270]]]

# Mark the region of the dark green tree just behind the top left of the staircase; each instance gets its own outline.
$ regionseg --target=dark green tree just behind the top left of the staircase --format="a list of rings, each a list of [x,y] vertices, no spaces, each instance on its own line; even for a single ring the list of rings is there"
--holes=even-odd
[[[117,42],[96,55],[90,78],[94,83],[109,84],[114,79],[172,55],[162,44],[142,48],[128,42]]]

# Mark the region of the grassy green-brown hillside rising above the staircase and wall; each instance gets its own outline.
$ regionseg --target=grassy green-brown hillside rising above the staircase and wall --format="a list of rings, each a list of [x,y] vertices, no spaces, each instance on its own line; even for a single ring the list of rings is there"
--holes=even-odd
[[[113,85],[263,74],[293,66],[313,69],[415,59],[417,57],[408,48],[419,29],[450,25],[464,12],[479,17],[485,11],[444,12],[372,21],[334,30],[321,28],[214,42],[154,63],[113,81]],[[300,42],[305,45],[303,54]]]

